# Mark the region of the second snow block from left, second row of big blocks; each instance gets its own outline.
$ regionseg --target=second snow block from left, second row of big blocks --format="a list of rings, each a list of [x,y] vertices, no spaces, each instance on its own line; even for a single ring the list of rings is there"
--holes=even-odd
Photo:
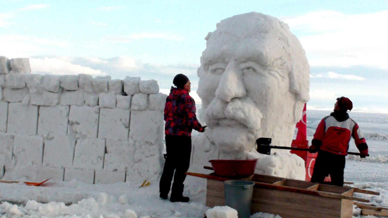
[[[43,138],[40,136],[15,135],[14,151],[16,165],[42,166]]]

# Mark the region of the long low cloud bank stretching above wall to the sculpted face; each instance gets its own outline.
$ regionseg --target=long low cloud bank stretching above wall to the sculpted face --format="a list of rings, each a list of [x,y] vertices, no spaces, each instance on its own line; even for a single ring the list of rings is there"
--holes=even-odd
[[[51,74],[91,74],[104,76],[109,74],[113,79],[124,79],[125,76],[140,76],[142,80],[158,80],[159,84],[169,84],[173,76],[183,73],[196,80],[197,67],[187,65],[163,65],[143,63],[128,56],[109,59],[98,57],[33,57],[30,59],[34,72]],[[195,84],[192,88],[196,87]]]

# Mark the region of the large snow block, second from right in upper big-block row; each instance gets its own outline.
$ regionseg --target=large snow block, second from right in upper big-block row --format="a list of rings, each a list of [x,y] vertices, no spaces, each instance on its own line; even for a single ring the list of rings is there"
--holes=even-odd
[[[128,140],[129,120],[129,110],[101,108],[98,138]]]

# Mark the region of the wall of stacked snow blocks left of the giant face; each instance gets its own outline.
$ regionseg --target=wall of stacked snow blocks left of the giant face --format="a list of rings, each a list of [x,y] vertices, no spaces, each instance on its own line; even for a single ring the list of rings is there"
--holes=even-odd
[[[163,164],[156,80],[30,74],[0,56],[0,179],[141,181]]]

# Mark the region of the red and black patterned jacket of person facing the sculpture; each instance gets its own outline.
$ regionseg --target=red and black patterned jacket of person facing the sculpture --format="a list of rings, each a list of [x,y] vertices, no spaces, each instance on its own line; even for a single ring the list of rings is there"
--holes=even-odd
[[[184,89],[171,87],[170,91],[165,106],[165,134],[191,136],[192,129],[201,131],[194,99]]]

